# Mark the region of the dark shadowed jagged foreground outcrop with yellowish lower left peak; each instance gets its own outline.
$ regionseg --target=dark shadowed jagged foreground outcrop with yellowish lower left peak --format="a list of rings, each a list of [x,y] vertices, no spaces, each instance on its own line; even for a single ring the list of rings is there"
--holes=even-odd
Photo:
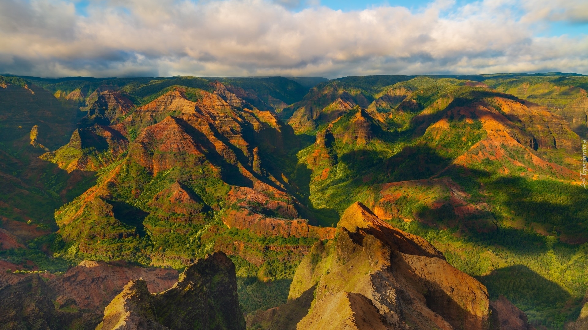
[[[245,318],[239,307],[235,265],[222,252],[199,259],[178,282],[150,295],[145,281],[131,281],[105,309],[96,329],[239,329]]]

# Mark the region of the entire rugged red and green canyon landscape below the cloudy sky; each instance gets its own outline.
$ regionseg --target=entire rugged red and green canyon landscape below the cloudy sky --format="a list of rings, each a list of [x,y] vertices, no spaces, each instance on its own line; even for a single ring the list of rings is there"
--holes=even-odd
[[[582,329],[586,90],[0,76],[0,324]]]

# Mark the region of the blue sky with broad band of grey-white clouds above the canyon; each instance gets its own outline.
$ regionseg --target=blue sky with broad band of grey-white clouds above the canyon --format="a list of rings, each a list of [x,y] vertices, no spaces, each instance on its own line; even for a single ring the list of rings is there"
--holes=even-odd
[[[0,0],[0,73],[588,74],[586,0]]]

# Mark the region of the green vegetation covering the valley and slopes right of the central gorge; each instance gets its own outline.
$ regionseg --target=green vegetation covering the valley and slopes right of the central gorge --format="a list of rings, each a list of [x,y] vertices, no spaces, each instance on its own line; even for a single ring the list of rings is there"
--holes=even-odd
[[[487,284],[493,299],[505,295],[529,314],[533,324],[561,329],[564,321],[577,316],[578,299],[588,288],[582,273],[588,261],[586,244],[576,245],[588,240],[588,214],[583,209],[588,195],[569,179],[559,180],[560,174],[549,167],[537,167],[521,147],[501,146],[507,157],[523,166],[505,157],[490,160],[496,151],[480,146],[471,154],[487,152],[486,159],[452,165],[488,134],[475,114],[456,116],[452,110],[486,102],[502,111],[493,97],[513,96],[433,77],[383,87],[374,96],[400,87],[413,91],[406,100],[416,103],[406,109],[403,103],[392,110],[382,107],[387,120],[372,126],[367,143],[345,141],[344,133],[357,129],[350,125],[356,111],[350,110],[329,126],[324,144],[298,153],[299,164],[291,177],[299,187],[308,187],[309,207],[342,213],[355,201],[373,206],[383,195],[398,193],[401,197],[386,206],[393,210],[393,224],[431,241],[451,264]],[[520,123],[513,127],[525,129]],[[326,124],[319,126],[318,134],[325,134],[325,129]],[[556,155],[551,150],[537,154],[547,160]],[[564,150],[557,155],[563,165],[566,157],[577,157]],[[479,205],[478,210],[456,213],[460,211],[452,204],[457,203],[451,199],[453,190],[437,190],[442,181],[429,178],[457,183],[465,193],[460,198]],[[407,181],[423,179],[427,181]],[[380,191],[382,184],[399,181],[406,183]],[[434,208],[434,202],[442,207]]]

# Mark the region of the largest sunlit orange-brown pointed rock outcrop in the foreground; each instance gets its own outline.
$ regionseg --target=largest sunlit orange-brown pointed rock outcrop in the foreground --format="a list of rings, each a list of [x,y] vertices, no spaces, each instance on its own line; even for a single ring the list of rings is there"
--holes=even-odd
[[[340,311],[358,329],[490,326],[484,285],[449,265],[423,238],[392,227],[360,203],[343,214],[335,241],[318,242],[306,255],[289,298],[315,284],[316,302],[298,329],[332,324],[327,311]],[[362,315],[372,315],[373,324],[362,324]]]

